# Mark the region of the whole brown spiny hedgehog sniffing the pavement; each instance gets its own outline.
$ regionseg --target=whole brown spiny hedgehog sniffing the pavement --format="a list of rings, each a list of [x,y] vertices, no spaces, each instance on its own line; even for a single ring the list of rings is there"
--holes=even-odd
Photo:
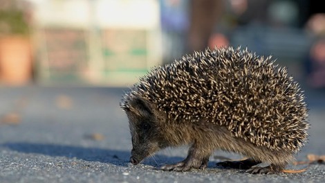
[[[154,67],[124,94],[120,107],[129,119],[130,162],[187,145],[182,162],[161,169],[203,169],[214,150],[224,150],[248,159],[217,166],[279,173],[308,138],[303,93],[271,55],[231,46],[194,51]]]

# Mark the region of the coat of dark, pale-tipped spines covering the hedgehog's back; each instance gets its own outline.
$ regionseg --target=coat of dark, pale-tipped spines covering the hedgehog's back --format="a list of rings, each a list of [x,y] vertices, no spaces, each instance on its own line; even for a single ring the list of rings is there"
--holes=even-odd
[[[257,146],[297,152],[308,128],[297,82],[271,56],[232,47],[206,49],[155,67],[133,86],[176,123],[216,123]]]

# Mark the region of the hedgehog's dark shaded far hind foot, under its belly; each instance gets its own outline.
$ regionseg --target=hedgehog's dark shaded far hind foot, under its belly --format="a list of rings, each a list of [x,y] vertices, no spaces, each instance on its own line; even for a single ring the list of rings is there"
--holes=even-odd
[[[259,161],[255,161],[254,159],[248,158],[248,159],[243,159],[241,161],[219,162],[216,164],[216,166],[222,166],[223,168],[237,168],[237,169],[247,170],[252,168],[252,166],[255,166],[260,163],[261,162]]]

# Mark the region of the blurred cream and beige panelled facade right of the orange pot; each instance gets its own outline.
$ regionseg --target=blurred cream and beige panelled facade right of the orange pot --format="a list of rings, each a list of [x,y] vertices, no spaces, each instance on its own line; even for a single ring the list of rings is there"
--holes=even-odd
[[[157,1],[43,1],[38,7],[39,82],[124,86],[160,64]]]

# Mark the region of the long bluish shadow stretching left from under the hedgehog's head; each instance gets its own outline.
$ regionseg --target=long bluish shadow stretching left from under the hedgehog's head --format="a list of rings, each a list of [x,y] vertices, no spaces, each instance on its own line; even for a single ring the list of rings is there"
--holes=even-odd
[[[102,162],[117,166],[129,166],[130,151],[111,150],[103,148],[87,148],[81,146],[68,146],[50,143],[3,143],[4,148],[26,154],[48,155],[50,157],[68,157],[69,159],[83,159],[87,162]],[[156,160],[155,160],[156,159]],[[159,168],[163,164],[172,164],[182,161],[183,157],[167,157],[165,155],[155,155],[148,157],[142,164]]]

